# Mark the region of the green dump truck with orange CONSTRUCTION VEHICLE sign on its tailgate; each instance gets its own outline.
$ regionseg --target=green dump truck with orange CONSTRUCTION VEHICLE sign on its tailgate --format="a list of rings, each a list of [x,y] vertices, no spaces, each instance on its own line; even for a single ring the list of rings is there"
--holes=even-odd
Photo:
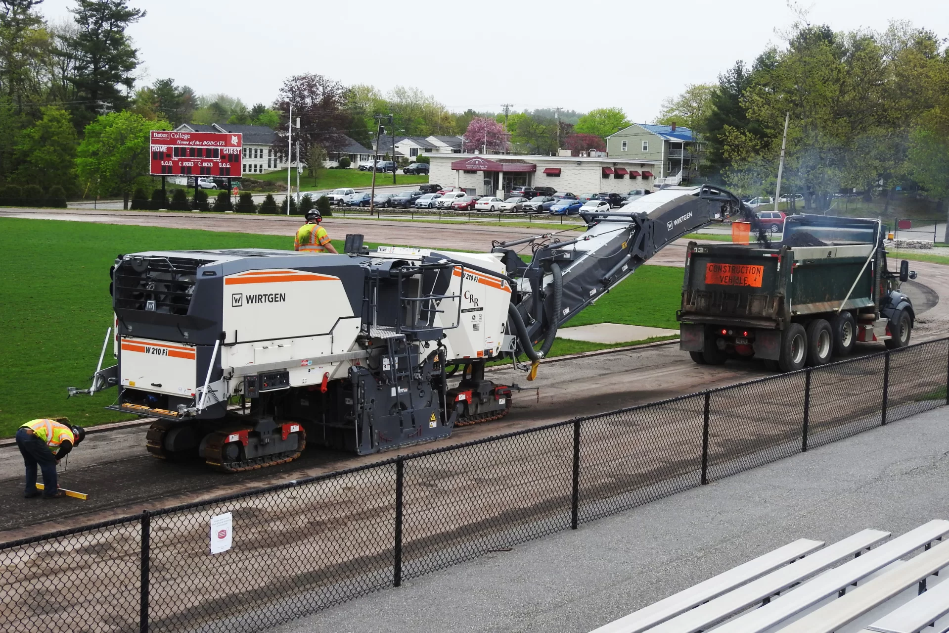
[[[791,372],[858,342],[908,345],[916,313],[900,284],[916,273],[907,261],[889,270],[883,239],[877,220],[795,215],[776,243],[690,241],[679,349],[699,364],[754,357]]]

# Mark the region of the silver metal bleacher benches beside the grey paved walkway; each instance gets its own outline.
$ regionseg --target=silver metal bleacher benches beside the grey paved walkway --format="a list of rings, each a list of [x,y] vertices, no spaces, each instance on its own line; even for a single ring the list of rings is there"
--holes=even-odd
[[[593,633],[943,633],[946,535],[949,521],[934,520],[888,541],[875,529],[828,547],[801,539]]]

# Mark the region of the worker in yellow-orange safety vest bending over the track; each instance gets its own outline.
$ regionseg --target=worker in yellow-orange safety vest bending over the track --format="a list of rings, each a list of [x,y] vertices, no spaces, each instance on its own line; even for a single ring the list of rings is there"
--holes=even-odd
[[[60,418],[68,422],[65,417]],[[36,466],[43,471],[43,496],[47,499],[64,497],[65,490],[56,483],[56,465],[59,460],[79,446],[85,431],[82,427],[72,427],[56,420],[30,420],[16,432],[16,445],[23,454],[23,463],[27,466],[27,489],[24,497],[40,496],[36,488]]]

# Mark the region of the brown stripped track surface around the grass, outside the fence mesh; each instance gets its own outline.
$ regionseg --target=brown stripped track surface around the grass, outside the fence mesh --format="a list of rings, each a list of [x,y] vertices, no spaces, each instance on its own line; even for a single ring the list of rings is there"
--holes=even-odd
[[[17,213],[17,212],[13,212]],[[48,213],[48,212],[47,212]],[[0,212],[0,217],[11,215]],[[26,215],[26,214],[24,214]],[[37,217],[30,213],[27,217]],[[88,215],[69,211],[71,219],[87,221]],[[237,226],[241,217],[197,216],[191,214],[96,214],[106,222],[146,223],[180,228],[210,228],[210,230],[286,234],[294,226],[281,219],[260,221],[248,219],[252,228]],[[156,223],[158,222],[158,223]],[[344,221],[351,226],[350,222]],[[195,223],[204,225],[194,225]],[[395,228],[404,230],[408,222],[366,221],[368,229],[380,231],[379,238],[366,234],[370,241],[385,240],[382,231]],[[389,227],[381,225],[389,224]],[[476,244],[467,250],[485,250],[486,240],[498,239],[498,231],[505,234],[533,235],[535,232],[516,227],[492,227],[490,230],[471,225],[422,224],[417,227],[419,244],[438,243],[445,247],[462,248],[460,244]],[[263,229],[263,230],[262,230]],[[348,232],[355,232],[346,229]],[[475,235],[476,234],[476,235]],[[388,234],[391,237],[391,233]],[[490,238],[488,237],[490,235]],[[438,237],[436,237],[438,236]],[[507,237],[507,236],[505,236]],[[512,239],[512,238],[508,238]],[[400,243],[411,243],[399,240]],[[683,240],[671,244],[650,263],[682,265]],[[940,264],[913,262],[920,273],[918,282],[904,285],[918,311],[914,341],[945,336],[949,332],[949,267]],[[923,285],[926,284],[926,285]],[[864,353],[877,352],[881,345],[860,346]],[[632,351],[589,355],[558,362],[545,363],[536,381],[529,383],[524,374],[512,369],[493,373],[497,382],[519,383],[526,390],[515,393],[512,412],[503,420],[456,430],[454,435],[423,448],[452,445],[471,439],[512,432],[539,426],[548,422],[568,419],[574,415],[605,412],[622,407],[660,400],[682,393],[694,393],[710,387],[732,384],[741,380],[766,375],[759,363],[730,362],[724,367],[698,366],[688,355],[679,352],[677,345],[654,345]],[[75,499],[29,500],[22,498],[22,461],[15,447],[0,448],[0,541],[42,533],[52,529],[82,525],[92,521],[140,512],[143,508],[160,508],[253,489],[270,483],[299,479],[307,475],[340,470],[363,463],[371,463],[391,456],[368,455],[354,457],[345,453],[311,449],[297,461],[267,470],[234,475],[211,472],[201,464],[170,464],[144,454],[144,428],[91,434],[82,451],[70,456],[68,470],[61,475],[61,486],[89,493],[89,500]],[[403,453],[414,449],[403,449]]]

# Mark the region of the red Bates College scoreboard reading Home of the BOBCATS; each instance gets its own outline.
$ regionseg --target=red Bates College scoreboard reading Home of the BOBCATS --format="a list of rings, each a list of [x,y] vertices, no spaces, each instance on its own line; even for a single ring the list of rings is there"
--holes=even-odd
[[[242,134],[152,130],[151,173],[241,177]]]

